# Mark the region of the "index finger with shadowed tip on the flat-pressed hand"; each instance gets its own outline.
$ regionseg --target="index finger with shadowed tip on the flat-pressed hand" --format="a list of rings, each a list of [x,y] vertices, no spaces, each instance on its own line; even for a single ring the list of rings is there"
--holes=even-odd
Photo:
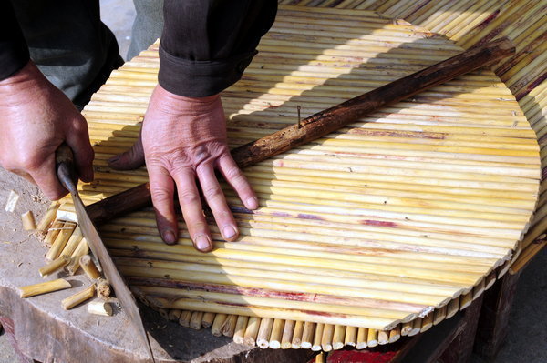
[[[173,202],[175,185],[169,172],[162,166],[149,166],[150,194],[156,211],[156,223],[161,239],[168,245],[177,242],[179,228]]]

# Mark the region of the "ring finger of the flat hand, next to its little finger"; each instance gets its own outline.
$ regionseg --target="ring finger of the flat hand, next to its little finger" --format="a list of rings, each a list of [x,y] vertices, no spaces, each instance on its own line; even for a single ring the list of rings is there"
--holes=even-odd
[[[201,165],[197,169],[200,179],[201,190],[207,204],[212,210],[212,215],[217,226],[221,230],[222,237],[227,241],[233,241],[239,236],[237,224],[233,219],[232,212],[226,204],[226,198],[222,188],[214,175],[211,165]]]

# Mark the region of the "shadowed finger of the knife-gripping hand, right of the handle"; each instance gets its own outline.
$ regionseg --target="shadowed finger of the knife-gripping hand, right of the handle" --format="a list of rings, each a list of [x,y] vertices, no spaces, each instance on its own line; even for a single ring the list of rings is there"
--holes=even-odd
[[[74,162],[80,179],[93,181],[93,158],[95,152],[89,143],[88,124],[83,116],[74,121],[74,132],[67,133],[67,144],[74,153]]]

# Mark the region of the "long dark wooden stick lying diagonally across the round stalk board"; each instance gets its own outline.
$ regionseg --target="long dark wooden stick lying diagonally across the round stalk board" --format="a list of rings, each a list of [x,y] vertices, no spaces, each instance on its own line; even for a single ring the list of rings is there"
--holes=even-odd
[[[308,116],[298,124],[287,126],[272,135],[239,146],[232,150],[233,159],[240,167],[252,166],[325,136],[383,106],[414,96],[430,87],[439,86],[514,52],[515,47],[508,38],[472,48],[410,76],[399,78],[364,95]],[[87,209],[89,217],[95,223],[101,224],[129,211],[148,206],[150,200],[150,186],[146,183],[101,200]]]

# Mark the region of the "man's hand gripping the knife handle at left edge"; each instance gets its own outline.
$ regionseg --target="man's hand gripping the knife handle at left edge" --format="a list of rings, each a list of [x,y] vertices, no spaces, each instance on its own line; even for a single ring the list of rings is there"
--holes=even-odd
[[[74,152],[80,178],[93,180],[88,125],[67,96],[32,62],[0,81],[1,166],[56,200],[67,194],[55,168],[55,152],[63,142]]]

